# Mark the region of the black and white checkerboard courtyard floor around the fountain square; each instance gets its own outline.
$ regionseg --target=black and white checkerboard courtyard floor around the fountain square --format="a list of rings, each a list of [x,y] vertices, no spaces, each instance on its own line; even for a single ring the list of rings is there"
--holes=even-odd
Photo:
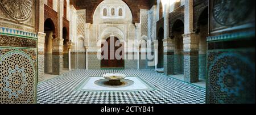
[[[148,91],[77,91],[89,76],[122,73],[139,76],[155,88]],[[181,82],[152,70],[73,70],[38,84],[40,104],[204,104],[205,88]]]

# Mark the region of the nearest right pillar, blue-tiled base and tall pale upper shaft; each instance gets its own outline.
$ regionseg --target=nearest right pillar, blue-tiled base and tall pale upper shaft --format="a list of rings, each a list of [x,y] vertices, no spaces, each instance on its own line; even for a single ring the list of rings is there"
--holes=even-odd
[[[196,83],[199,81],[199,37],[193,33],[193,1],[185,1],[184,22],[184,81]]]

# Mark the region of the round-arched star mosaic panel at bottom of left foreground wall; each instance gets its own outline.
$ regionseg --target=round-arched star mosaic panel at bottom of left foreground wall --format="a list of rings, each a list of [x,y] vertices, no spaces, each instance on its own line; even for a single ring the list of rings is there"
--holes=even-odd
[[[36,50],[0,48],[0,103],[36,102],[36,53]]]

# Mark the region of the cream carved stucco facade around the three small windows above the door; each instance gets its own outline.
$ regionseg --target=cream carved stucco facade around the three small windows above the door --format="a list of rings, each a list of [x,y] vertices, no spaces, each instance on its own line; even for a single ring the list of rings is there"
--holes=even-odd
[[[115,16],[102,17],[102,9],[104,7],[115,8]],[[118,8],[123,8],[123,16],[118,16]],[[110,8],[109,8],[110,9]],[[108,9],[109,14],[111,11]],[[89,29],[89,52],[98,50],[97,42],[101,39],[107,39],[114,34],[120,40],[127,40],[129,36],[129,27],[133,24],[133,17],[130,8],[125,2],[118,0],[106,0],[100,3],[96,8],[93,16],[93,24]],[[133,33],[133,32],[132,32]]]

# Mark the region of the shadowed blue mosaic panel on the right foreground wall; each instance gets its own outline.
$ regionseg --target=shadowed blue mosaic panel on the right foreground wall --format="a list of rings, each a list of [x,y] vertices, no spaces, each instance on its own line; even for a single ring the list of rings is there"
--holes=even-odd
[[[255,49],[208,51],[207,103],[255,103]]]

